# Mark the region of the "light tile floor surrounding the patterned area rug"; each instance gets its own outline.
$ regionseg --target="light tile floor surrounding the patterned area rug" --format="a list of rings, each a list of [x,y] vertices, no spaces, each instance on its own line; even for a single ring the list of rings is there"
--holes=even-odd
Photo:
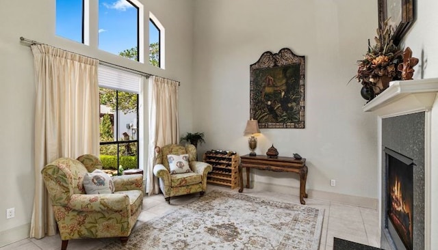
[[[207,193],[212,190],[230,191],[223,186],[209,185]],[[237,192],[237,189],[233,190]],[[266,191],[257,191],[255,189],[244,189],[247,195],[257,197],[266,197],[280,202],[289,202],[299,204],[298,196],[286,195],[282,193],[271,193]],[[143,210],[138,217],[135,227],[138,227],[145,221],[159,217],[170,210],[178,208],[181,204],[188,204],[198,199],[198,195],[184,195],[171,199],[171,204],[165,202],[162,195],[153,195],[145,197],[143,200]],[[361,244],[379,247],[378,237],[378,212],[370,208],[361,208],[339,204],[336,202],[327,202],[320,199],[306,199],[307,206],[324,209],[324,223],[322,224],[322,235],[320,241],[320,250],[333,249],[333,237],[343,238]],[[103,247],[105,239],[83,239],[70,240],[68,250],[87,250],[95,247]],[[25,238],[14,242],[0,250],[55,250],[60,249],[61,239],[59,235],[47,236],[40,240],[35,238]]]

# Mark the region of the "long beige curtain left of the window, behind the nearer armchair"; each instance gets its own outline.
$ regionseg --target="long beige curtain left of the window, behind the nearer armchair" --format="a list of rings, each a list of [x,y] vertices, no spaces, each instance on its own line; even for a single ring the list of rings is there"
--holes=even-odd
[[[99,61],[60,48],[31,46],[36,77],[35,197],[30,236],[56,234],[41,169],[60,157],[99,155]]]

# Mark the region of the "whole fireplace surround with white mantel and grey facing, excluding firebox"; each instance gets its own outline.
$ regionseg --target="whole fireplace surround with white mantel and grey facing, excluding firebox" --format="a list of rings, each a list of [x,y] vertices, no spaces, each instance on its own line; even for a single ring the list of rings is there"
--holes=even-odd
[[[378,128],[378,173],[381,187],[381,248],[406,249],[394,244],[398,236],[388,212],[388,174],[385,148],[413,159],[412,249],[438,246],[438,78],[392,81],[363,111],[375,113]],[[402,189],[402,186],[400,186]],[[404,188],[403,188],[404,189]],[[390,227],[394,234],[389,234]]]

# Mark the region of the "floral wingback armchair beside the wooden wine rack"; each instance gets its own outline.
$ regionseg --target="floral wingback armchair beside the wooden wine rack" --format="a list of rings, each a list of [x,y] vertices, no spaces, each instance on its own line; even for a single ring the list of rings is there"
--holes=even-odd
[[[183,161],[188,162],[187,169],[183,169],[183,164],[179,164],[183,161],[175,160],[178,156],[182,156]],[[172,169],[172,161],[179,171]],[[159,178],[159,189],[169,204],[170,197],[177,195],[199,192],[203,196],[207,190],[207,173],[211,169],[208,163],[196,161],[196,148],[192,144],[185,147],[177,144],[155,147],[153,173]]]

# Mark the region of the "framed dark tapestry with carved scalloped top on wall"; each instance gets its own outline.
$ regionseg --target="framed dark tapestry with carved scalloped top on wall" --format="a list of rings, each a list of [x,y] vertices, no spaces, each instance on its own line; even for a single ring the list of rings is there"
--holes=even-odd
[[[305,57],[289,48],[250,66],[250,118],[259,128],[305,128]]]

